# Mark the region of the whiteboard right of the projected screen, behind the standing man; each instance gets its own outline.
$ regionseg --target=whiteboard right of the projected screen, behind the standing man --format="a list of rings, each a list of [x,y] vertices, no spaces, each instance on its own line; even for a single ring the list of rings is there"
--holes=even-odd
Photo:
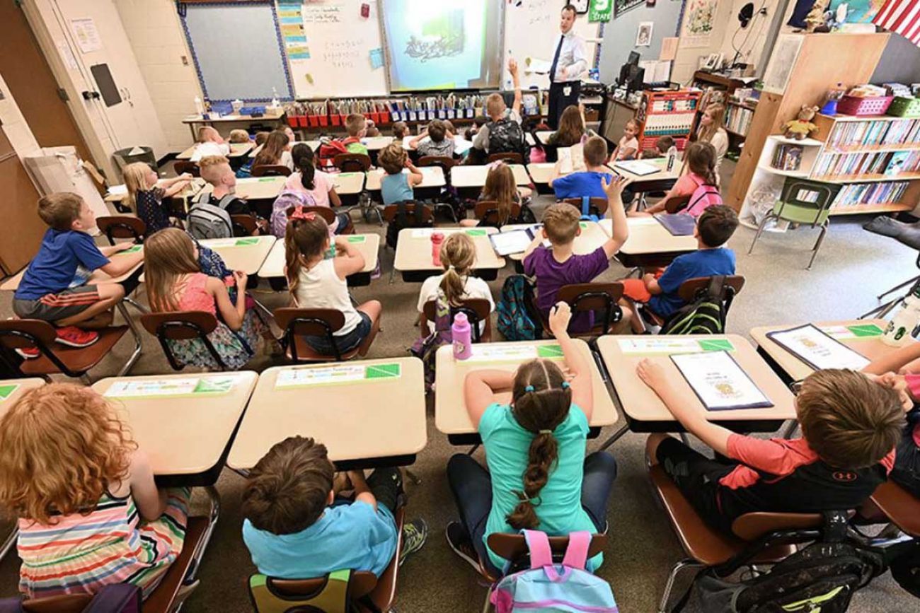
[[[524,59],[531,56],[537,60],[553,61],[553,54],[559,42],[559,13],[564,3],[558,0],[522,0],[505,4],[505,66],[502,70],[502,89],[512,88],[512,77],[508,74],[508,58],[518,61],[521,74],[521,87],[536,85],[541,89],[549,88],[546,74],[526,74]],[[597,39],[600,23],[589,23],[588,15],[575,18],[575,33],[582,39]],[[594,67],[594,49],[596,45],[586,42],[588,68]]]

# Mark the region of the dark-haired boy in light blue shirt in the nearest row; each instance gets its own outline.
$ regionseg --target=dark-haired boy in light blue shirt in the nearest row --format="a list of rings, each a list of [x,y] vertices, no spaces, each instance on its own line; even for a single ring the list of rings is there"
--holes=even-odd
[[[399,535],[393,514],[402,494],[398,469],[378,469],[364,480],[348,471],[354,501],[337,497],[335,467],[326,446],[288,437],[249,471],[243,492],[243,540],[259,573],[309,579],[332,571],[370,571],[378,577],[393,560]],[[338,484],[338,481],[337,481]],[[403,526],[399,562],[428,536],[421,519]]]

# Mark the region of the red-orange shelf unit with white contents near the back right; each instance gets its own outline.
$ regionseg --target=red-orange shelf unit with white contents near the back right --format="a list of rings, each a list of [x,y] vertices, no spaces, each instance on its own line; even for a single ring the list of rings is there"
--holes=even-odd
[[[700,92],[646,91],[642,94],[636,119],[638,120],[639,151],[653,149],[661,136],[671,136],[677,148],[684,150],[693,130]]]

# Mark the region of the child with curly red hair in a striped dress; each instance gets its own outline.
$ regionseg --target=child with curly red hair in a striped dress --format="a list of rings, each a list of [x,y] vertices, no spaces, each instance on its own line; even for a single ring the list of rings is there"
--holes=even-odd
[[[19,591],[149,596],[182,551],[188,489],[156,487],[150,459],[92,388],[49,383],[0,419],[0,505],[18,518]]]

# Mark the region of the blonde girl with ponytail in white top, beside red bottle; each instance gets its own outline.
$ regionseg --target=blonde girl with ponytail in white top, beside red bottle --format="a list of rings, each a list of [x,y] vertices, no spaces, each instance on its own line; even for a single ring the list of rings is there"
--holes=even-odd
[[[448,305],[459,306],[461,301],[481,298],[489,301],[489,312],[495,311],[489,284],[471,276],[476,267],[476,244],[466,233],[447,235],[441,244],[441,266],[444,268],[443,275],[426,278],[421,284],[419,312],[424,312],[425,303],[436,300],[439,292],[443,292]],[[479,322],[479,333],[485,329],[486,323]],[[428,323],[428,331],[434,332],[433,321]]]

